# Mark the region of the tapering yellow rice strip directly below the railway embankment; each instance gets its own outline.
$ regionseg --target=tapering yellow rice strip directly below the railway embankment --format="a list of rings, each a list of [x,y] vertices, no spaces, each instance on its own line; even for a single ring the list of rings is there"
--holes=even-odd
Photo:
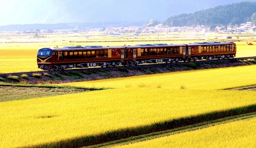
[[[219,69],[171,72],[130,78],[111,78],[86,82],[72,82],[59,85],[83,87],[149,87],[166,89],[219,90],[256,84],[256,65]]]

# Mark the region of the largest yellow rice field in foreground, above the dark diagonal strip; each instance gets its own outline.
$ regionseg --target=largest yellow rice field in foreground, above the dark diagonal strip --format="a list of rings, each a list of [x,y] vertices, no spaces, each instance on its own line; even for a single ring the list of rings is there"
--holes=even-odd
[[[78,137],[111,135],[116,130],[251,104],[256,104],[255,92],[162,88],[109,89],[0,102],[0,143],[3,148],[58,145],[61,140],[67,143]]]

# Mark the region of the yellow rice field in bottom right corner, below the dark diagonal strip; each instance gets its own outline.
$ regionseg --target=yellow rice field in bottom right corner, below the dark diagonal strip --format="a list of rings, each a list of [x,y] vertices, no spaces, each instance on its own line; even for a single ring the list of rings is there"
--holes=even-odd
[[[255,148],[256,119],[236,121],[113,148]]]

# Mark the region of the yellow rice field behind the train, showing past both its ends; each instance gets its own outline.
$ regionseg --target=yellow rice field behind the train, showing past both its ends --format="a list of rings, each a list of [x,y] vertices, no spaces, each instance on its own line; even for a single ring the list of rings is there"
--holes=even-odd
[[[166,42],[166,41],[164,41]],[[168,43],[189,43],[194,41],[169,41]],[[89,42],[80,43],[84,45],[103,45],[103,46],[123,46],[135,45],[141,43],[138,42]],[[143,41],[143,43],[159,43],[159,41]],[[43,47],[56,47],[56,45],[63,43],[1,43],[0,45],[0,73],[10,72],[25,72],[25,71],[37,71],[36,54],[39,48]],[[74,43],[70,43],[74,44]],[[248,57],[256,56],[256,43],[252,46],[246,45],[246,42],[236,42],[237,53],[236,57]],[[66,45],[63,45],[66,46]],[[59,47],[61,47],[59,45]]]

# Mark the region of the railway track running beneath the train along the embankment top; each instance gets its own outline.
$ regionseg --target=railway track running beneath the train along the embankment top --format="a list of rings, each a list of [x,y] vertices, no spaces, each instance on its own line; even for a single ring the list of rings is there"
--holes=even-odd
[[[231,58],[231,59],[220,59],[220,60],[198,60],[198,61],[195,61],[193,63],[195,64],[203,64],[203,63],[223,63],[223,62],[229,62],[229,63],[234,63],[234,62],[237,62],[239,60],[246,60],[246,59],[254,59],[256,60],[256,56],[252,56],[252,57],[241,57],[241,58]],[[39,70],[39,71],[29,71],[29,72],[16,72],[16,73],[0,73],[0,77],[1,78],[7,78],[9,75],[12,75],[12,76],[21,76],[22,74],[26,74],[28,75],[28,77],[32,77],[32,74],[33,73],[39,73],[39,74],[44,74],[45,72],[46,73],[49,73],[49,74],[53,74],[53,73],[62,73],[63,71],[69,73],[69,72],[72,72],[72,71],[78,71],[78,72],[81,72],[81,71],[91,71],[91,72],[98,72],[98,71],[102,71],[102,70],[106,70],[106,71],[112,71],[112,70],[115,70],[116,68],[120,68],[122,67],[123,69],[145,69],[145,68],[154,68],[154,67],[164,67],[164,66],[182,66],[184,64],[186,64],[188,62],[179,62],[179,63],[150,63],[150,64],[140,64],[140,65],[136,65],[136,66],[116,66],[116,67],[108,67],[108,68],[101,68],[101,67],[93,67],[93,68],[79,68],[79,69],[68,69],[68,70],[56,70],[56,71],[47,71],[47,70]]]

